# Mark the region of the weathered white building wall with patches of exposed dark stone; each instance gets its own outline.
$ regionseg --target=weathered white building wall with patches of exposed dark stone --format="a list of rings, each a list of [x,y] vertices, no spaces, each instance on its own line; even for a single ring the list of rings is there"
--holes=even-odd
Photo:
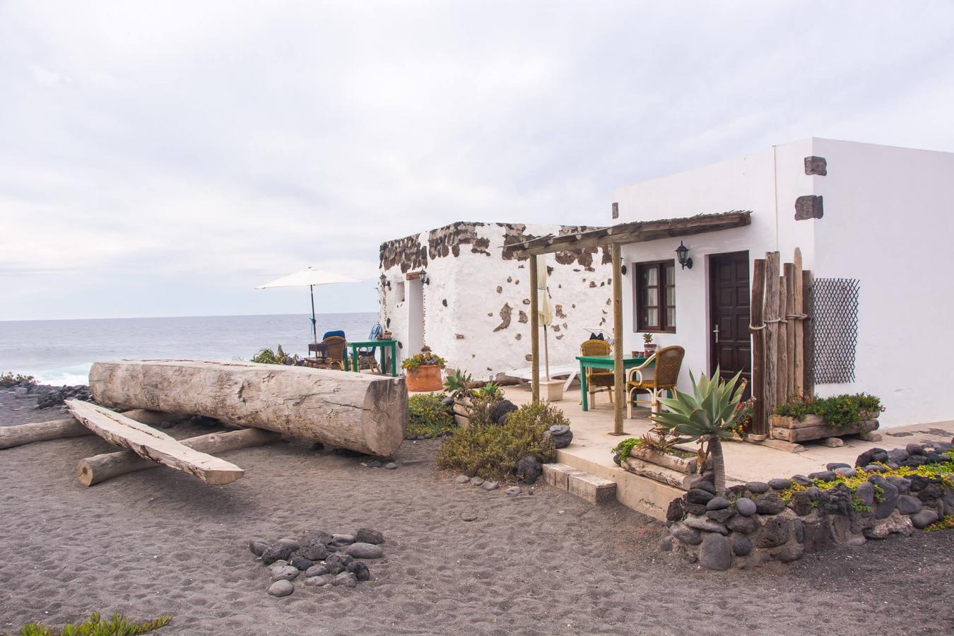
[[[423,286],[424,340],[449,368],[463,368],[487,380],[529,366],[529,261],[503,246],[585,229],[457,222],[385,242],[381,273],[391,281],[391,289],[384,290],[381,313],[401,342],[399,358],[415,352],[407,346],[413,300],[406,283],[401,300],[398,285],[407,274],[425,269],[430,282]],[[554,314],[550,364],[555,366],[574,361],[589,330],[612,331],[612,267],[604,249],[549,255],[547,266]]]

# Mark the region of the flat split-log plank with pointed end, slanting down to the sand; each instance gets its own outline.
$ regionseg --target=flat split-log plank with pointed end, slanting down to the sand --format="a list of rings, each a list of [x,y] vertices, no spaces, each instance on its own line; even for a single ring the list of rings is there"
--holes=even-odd
[[[155,428],[130,420],[102,406],[80,400],[66,400],[76,420],[102,439],[129,448],[139,457],[196,476],[213,485],[235,482],[245,471],[234,463],[199,453]]]

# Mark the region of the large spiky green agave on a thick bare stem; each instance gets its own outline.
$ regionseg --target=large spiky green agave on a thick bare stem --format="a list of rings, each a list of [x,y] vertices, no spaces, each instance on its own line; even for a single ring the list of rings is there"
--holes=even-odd
[[[692,393],[679,392],[674,399],[660,398],[659,402],[668,411],[653,413],[650,417],[659,426],[678,436],[678,441],[699,441],[705,444],[707,453],[713,460],[713,472],[716,478],[716,493],[725,492],[725,459],[722,456],[722,440],[732,438],[732,427],[739,417],[736,408],[742,400],[745,382],[739,383],[741,372],[729,381],[719,378],[719,370],[712,378],[699,376],[693,382]],[[704,465],[704,464],[702,464]]]

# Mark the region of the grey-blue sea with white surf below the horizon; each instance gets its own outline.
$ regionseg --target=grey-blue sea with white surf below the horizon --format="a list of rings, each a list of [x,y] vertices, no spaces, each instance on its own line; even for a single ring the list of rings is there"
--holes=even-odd
[[[318,337],[341,329],[364,340],[376,313],[318,314]],[[262,348],[308,355],[310,314],[189,318],[0,320],[0,373],[53,386],[86,384],[97,360],[123,358],[250,359]]]

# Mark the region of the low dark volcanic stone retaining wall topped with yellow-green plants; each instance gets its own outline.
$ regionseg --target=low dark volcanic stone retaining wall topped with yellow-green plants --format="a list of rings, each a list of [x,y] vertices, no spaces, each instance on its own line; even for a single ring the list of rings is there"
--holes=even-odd
[[[772,560],[789,563],[805,552],[864,544],[891,534],[908,536],[954,515],[954,475],[881,473],[900,465],[949,463],[950,456],[939,453],[950,449],[951,444],[939,443],[908,444],[890,455],[872,449],[859,456],[857,467],[830,463],[827,470],[808,476],[732,486],[725,497],[716,497],[707,475],[670,503],[660,547],[704,567],[726,570]]]

